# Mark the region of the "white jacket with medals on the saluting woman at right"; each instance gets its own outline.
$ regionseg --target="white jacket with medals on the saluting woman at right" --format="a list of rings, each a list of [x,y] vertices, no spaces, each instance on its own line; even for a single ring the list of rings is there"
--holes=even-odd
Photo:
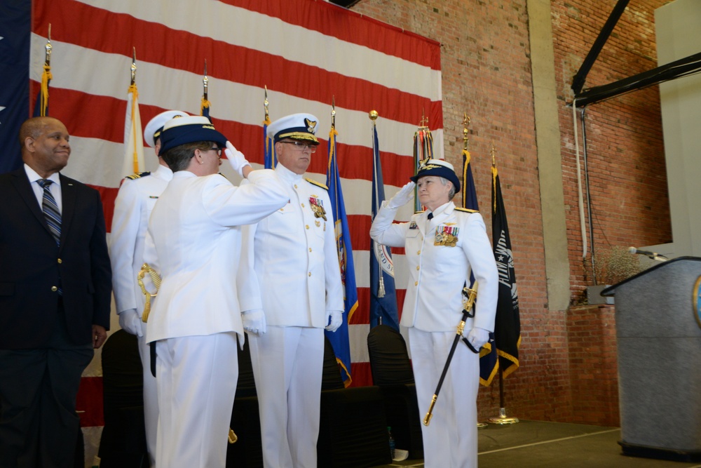
[[[370,236],[406,250],[409,283],[401,325],[429,332],[455,330],[463,311],[461,292],[465,283],[470,284],[472,269],[477,302],[475,318],[465,322],[465,330],[476,326],[494,331],[498,273],[482,215],[456,208],[452,201],[437,208],[432,220],[423,212],[411,216],[409,222],[393,224],[395,213],[383,206]],[[445,237],[449,233],[457,238],[454,246],[436,241],[436,234]]]

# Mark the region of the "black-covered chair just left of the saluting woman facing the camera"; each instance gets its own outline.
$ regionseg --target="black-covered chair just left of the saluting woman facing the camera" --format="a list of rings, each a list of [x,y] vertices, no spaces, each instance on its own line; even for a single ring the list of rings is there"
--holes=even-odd
[[[367,335],[367,350],[372,380],[381,388],[395,446],[408,450],[412,460],[423,458],[421,415],[404,337],[388,325],[375,326]]]

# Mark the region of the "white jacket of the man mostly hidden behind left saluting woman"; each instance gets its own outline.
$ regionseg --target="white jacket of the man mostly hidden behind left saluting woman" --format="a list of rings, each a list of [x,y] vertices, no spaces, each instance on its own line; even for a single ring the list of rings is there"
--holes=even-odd
[[[151,175],[125,178],[119,187],[109,236],[117,314],[129,309],[136,309],[139,316],[144,312],[144,295],[137,283],[144,264],[144,238],[156,200],[172,178],[170,168],[159,164]]]

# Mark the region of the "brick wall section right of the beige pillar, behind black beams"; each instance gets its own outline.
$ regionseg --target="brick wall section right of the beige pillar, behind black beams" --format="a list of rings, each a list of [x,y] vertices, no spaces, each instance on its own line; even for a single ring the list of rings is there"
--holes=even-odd
[[[562,166],[573,302],[592,284],[583,267],[571,107],[577,72],[615,1],[552,1]],[[657,66],[655,8],[665,0],[628,4],[585,82],[611,83]],[[594,251],[672,241],[658,86],[591,105],[586,112]],[[580,138],[581,127],[578,129]],[[580,140],[581,145],[581,140]]]

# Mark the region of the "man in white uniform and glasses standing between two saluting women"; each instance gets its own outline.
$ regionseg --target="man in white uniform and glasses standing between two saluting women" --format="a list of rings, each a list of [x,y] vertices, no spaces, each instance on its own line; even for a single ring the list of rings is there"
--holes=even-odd
[[[317,466],[324,328],[335,331],[343,317],[328,189],[303,176],[317,122],[293,114],[268,126],[290,203],[244,229],[239,294],[268,468]]]

